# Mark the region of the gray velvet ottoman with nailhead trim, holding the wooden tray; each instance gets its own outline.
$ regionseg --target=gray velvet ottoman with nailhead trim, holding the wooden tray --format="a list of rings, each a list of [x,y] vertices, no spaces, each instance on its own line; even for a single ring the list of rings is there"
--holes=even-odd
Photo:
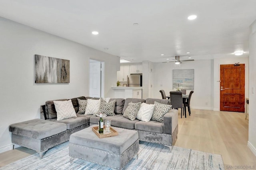
[[[92,132],[94,126],[70,135],[69,156],[120,170],[138,154],[137,131],[114,127],[118,136],[98,138]]]

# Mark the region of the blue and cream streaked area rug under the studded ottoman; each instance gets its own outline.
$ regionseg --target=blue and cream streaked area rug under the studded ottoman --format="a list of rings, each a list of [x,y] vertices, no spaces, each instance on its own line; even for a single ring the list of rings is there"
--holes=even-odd
[[[200,152],[187,148],[173,147],[150,142],[140,142],[138,159],[136,156],[124,170],[224,170],[221,155]],[[74,158],[70,163],[68,142],[49,149],[39,159],[39,154],[23,158],[0,170],[111,170],[88,161]]]

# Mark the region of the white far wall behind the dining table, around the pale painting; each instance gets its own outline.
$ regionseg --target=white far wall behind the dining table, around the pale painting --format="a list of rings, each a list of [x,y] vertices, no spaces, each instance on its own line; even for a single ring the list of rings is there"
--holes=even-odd
[[[194,93],[192,94],[191,108],[213,109],[213,60],[197,60],[183,62],[174,67],[174,62],[154,63],[154,98],[162,98],[159,90],[163,89],[166,96],[172,90],[172,70],[194,69]],[[189,93],[190,90],[187,90]]]

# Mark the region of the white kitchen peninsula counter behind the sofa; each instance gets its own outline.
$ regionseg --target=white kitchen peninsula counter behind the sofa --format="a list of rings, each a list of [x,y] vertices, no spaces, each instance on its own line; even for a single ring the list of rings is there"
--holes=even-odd
[[[142,98],[142,89],[144,87],[112,87],[115,98]]]

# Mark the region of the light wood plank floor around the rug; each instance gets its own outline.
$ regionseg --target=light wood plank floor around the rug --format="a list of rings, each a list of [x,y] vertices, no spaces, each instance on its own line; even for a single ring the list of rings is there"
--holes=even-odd
[[[180,118],[175,146],[221,154],[226,170],[255,166],[256,156],[247,147],[248,120],[244,113],[192,109]],[[0,154],[0,167],[25,158],[35,151],[18,147]],[[232,167],[233,166],[233,167]]]

